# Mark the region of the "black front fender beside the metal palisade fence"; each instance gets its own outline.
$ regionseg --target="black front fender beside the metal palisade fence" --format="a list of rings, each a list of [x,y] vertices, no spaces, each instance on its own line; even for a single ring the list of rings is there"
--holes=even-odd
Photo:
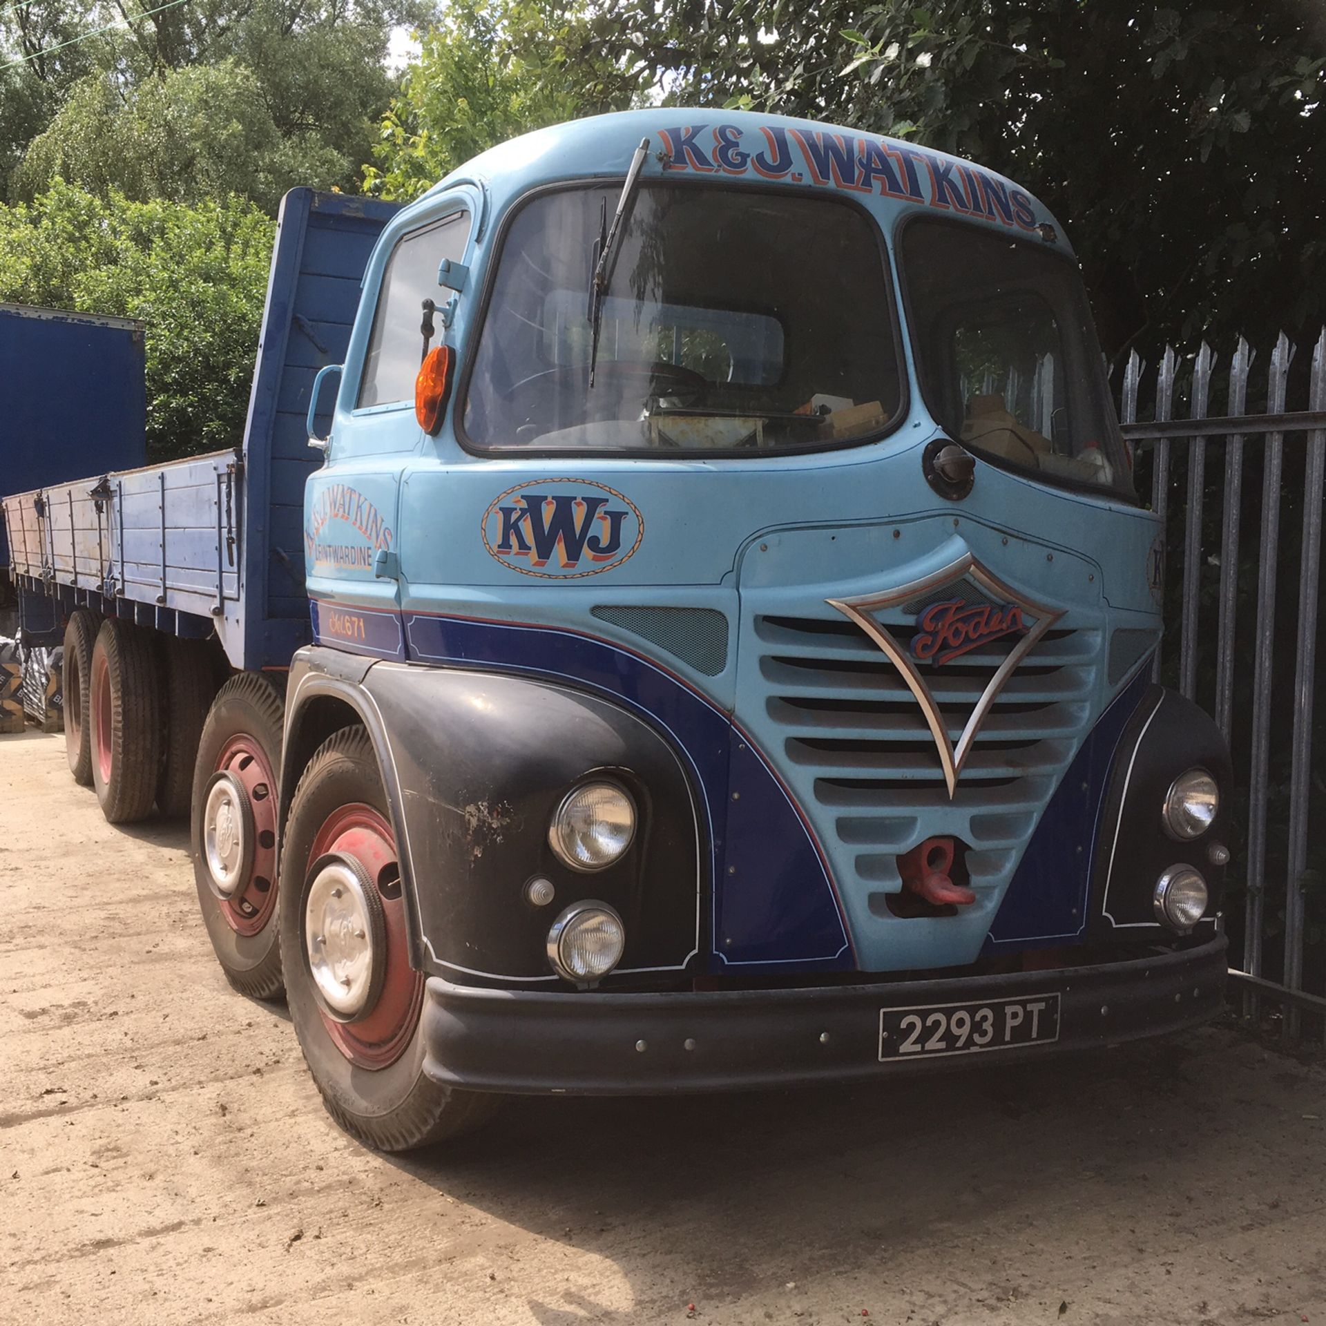
[[[1166,831],[1162,810],[1174,780],[1193,766],[1215,777],[1220,809],[1207,833],[1180,842]],[[1175,691],[1150,686],[1119,741],[1103,804],[1091,873],[1095,937],[1172,937],[1156,920],[1154,896],[1160,874],[1175,865],[1193,866],[1207,880],[1211,900],[1197,931],[1208,935],[1225,882],[1211,849],[1229,843],[1232,801],[1229,749],[1215,721]]]

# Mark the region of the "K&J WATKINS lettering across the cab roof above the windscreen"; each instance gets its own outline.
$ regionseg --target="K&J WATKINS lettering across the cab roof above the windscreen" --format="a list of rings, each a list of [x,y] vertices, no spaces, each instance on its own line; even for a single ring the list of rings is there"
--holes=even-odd
[[[668,156],[668,170],[712,175],[744,175],[754,171],[764,179],[805,178],[819,187],[906,198],[944,211],[984,216],[1002,225],[1036,229],[1030,196],[975,166],[888,139],[761,126],[757,151],[741,146],[736,125],[687,125],[659,131]],[[798,168],[800,167],[800,168]]]

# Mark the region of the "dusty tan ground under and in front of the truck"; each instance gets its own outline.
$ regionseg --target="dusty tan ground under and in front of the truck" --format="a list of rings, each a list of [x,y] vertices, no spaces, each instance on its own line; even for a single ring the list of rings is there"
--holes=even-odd
[[[111,829],[58,736],[0,737],[0,900],[4,1322],[1326,1326],[1326,1073],[1228,1029],[390,1159],[225,984],[184,829]]]

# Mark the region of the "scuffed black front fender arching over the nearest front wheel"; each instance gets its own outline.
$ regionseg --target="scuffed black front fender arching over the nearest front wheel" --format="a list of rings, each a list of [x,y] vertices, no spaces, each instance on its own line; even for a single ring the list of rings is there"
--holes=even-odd
[[[288,695],[282,788],[293,789],[335,727],[359,721],[369,733],[420,969],[459,983],[556,988],[548,931],[582,899],[609,903],[625,924],[626,953],[605,984],[639,983],[642,973],[666,983],[697,960],[695,798],[672,748],[640,719],[529,678],[320,647],[296,655]],[[631,793],[638,825],[619,862],[586,874],[558,861],[548,829],[562,797],[590,774]],[[553,884],[548,906],[525,896],[536,876]]]

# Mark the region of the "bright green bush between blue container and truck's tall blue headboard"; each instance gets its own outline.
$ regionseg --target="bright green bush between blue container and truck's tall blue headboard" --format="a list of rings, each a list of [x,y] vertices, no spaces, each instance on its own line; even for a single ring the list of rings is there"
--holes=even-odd
[[[0,300],[141,318],[152,459],[236,446],[274,225],[239,199],[187,207],[62,182],[0,206]]]

